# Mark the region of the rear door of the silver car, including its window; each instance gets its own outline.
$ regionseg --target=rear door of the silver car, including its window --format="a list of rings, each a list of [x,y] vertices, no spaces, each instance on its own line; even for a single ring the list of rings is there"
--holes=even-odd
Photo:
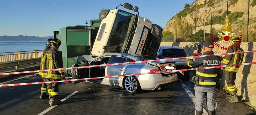
[[[127,58],[123,56],[113,56],[112,59],[110,59],[110,63],[125,63],[127,62]],[[107,76],[113,76],[113,75],[123,75],[124,72],[127,70],[127,64],[123,65],[116,65],[116,66],[107,66],[105,75]],[[109,84],[111,85],[119,85],[119,82],[121,80],[121,77],[111,77],[109,79]],[[107,79],[105,78],[105,82],[107,82]]]

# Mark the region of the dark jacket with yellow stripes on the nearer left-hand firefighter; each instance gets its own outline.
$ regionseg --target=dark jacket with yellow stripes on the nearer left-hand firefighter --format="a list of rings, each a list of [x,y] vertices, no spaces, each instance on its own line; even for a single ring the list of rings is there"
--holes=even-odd
[[[43,54],[42,58],[43,58],[42,70],[63,68],[60,52],[54,46],[52,46],[49,50],[47,50]],[[45,71],[45,72],[42,72],[41,75],[42,75],[42,78],[47,78],[47,79],[62,79],[61,75],[64,75],[64,70]]]

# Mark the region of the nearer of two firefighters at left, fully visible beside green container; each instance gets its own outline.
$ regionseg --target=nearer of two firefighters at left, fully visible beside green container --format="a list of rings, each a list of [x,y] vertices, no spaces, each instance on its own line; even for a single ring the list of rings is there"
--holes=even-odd
[[[57,38],[51,40],[51,48],[47,50],[44,55],[44,63],[43,63],[43,70],[50,70],[50,69],[57,69],[63,68],[63,63],[61,59],[60,52],[58,50],[59,46],[61,45],[61,41]],[[46,82],[53,82],[58,81],[65,77],[64,71],[45,71],[42,72],[42,78],[46,79]],[[57,99],[57,94],[59,92],[59,84],[56,83],[49,83],[47,87],[51,87],[51,94],[50,94],[50,106],[55,106],[61,104],[61,101]]]

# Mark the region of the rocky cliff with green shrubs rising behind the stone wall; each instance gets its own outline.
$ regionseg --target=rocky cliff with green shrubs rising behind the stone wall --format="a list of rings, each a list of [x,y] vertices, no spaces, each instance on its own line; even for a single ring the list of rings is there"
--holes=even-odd
[[[164,31],[170,30],[174,36],[179,36],[191,31],[194,33],[206,25],[205,30],[210,33],[212,23],[213,34],[216,34],[221,31],[228,9],[232,33],[247,35],[248,1],[195,0],[193,4],[186,4],[183,11],[173,16],[165,25]],[[250,0],[249,6],[249,33],[256,33],[256,0]]]

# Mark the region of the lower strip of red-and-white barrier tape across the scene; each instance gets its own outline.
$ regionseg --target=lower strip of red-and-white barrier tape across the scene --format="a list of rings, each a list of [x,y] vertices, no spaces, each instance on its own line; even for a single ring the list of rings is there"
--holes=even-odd
[[[60,83],[60,82],[71,82],[71,81],[81,81],[81,80],[91,80],[91,79],[102,79],[102,78],[114,78],[114,77],[134,76],[134,75],[145,75],[145,74],[163,74],[163,73],[167,73],[167,74],[168,74],[168,73],[171,73],[171,72],[179,72],[179,71],[205,70],[205,69],[223,68],[223,67],[232,67],[232,66],[244,66],[244,65],[252,65],[252,64],[256,64],[256,62],[241,63],[241,64],[230,64],[230,65],[225,65],[225,66],[211,66],[211,67],[189,68],[189,69],[182,69],[182,70],[167,70],[167,71],[159,71],[159,72],[148,72],[148,73],[137,73],[137,74],[124,74],[124,75],[102,76],[102,77],[95,77],[95,78],[82,78],[82,79],[59,80],[59,81],[52,81],[52,82],[32,82],[32,83],[0,84],[0,87],[26,86],[26,85],[44,84],[44,83]]]

